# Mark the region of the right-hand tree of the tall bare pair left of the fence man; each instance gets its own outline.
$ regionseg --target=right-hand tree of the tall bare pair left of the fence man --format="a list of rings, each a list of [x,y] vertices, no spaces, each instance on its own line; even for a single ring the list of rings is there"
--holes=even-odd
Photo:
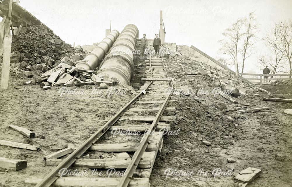
[[[250,57],[251,54],[253,54],[249,49],[251,49],[253,45],[257,42],[255,36],[256,30],[257,30],[256,17],[254,15],[254,12],[251,12],[248,14],[248,18],[245,21],[244,43],[243,48],[241,50],[242,55],[241,73],[243,73],[244,70],[245,60],[248,57]]]

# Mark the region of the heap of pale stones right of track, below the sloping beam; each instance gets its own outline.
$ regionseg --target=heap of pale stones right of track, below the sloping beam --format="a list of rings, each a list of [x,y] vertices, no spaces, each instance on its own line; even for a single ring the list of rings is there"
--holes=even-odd
[[[218,69],[217,67],[199,62],[197,60],[192,60],[187,55],[181,55],[181,53],[171,54],[169,58],[175,60],[174,64],[176,66],[187,66],[192,67],[193,69],[184,67],[185,74],[188,72],[198,72],[203,75],[209,76],[208,79],[211,79],[215,85],[219,86],[223,89],[238,89],[241,94],[245,93],[253,93],[256,92],[257,89],[255,86],[242,78],[241,76],[235,76],[235,74],[228,70]],[[188,72],[187,72],[188,71]]]

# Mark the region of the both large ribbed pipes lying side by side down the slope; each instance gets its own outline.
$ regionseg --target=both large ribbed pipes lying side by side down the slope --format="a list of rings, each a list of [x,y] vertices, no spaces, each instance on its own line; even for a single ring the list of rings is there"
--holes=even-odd
[[[99,77],[121,85],[130,85],[134,72],[133,59],[136,48],[134,38],[138,37],[138,33],[138,28],[133,24],[126,25],[121,34],[113,30],[76,67],[94,70],[99,65],[97,71]],[[107,51],[108,54],[105,56]],[[104,60],[100,63],[103,57]]]

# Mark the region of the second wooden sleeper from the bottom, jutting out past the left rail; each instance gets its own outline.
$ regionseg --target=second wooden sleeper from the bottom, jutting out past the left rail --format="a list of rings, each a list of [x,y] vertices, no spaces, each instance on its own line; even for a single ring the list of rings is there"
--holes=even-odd
[[[150,168],[152,162],[154,162],[155,151],[144,152],[138,167],[139,168]],[[62,159],[47,159],[46,165],[58,165],[62,162]],[[100,168],[115,168],[115,169],[125,169],[131,162],[131,158],[97,158],[97,159],[78,159],[74,163],[74,166],[87,167],[91,169]]]

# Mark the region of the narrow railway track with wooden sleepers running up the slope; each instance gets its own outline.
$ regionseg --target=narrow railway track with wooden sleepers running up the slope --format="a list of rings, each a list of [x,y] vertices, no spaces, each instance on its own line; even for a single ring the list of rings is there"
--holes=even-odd
[[[43,179],[27,179],[27,183],[35,187],[150,186],[164,131],[170,130],[168,122],[176,116],[175,108],[168,106],[174,88],[164,58],[150,53],[145,62],[149,71],[140,92],[66,158],[47,159],[46,165],[55,168]]]

